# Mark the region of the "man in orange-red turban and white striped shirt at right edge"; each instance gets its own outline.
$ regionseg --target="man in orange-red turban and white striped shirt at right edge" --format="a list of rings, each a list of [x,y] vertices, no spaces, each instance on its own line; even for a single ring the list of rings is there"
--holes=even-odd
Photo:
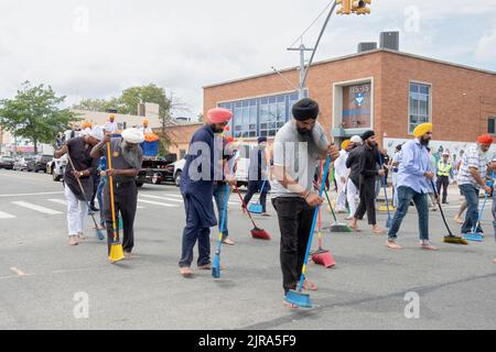
[[[462,224],[462,233],[468,233],[474,230],[478,218],[478,193],[481,189],[489,194],[492,188],[486,185],[485,177],[488,169],[496,169],[496,163],[490,163],[488,151],[493,144],[490,135],[481,135],[477,144],[470,147],[462,158],[459,173],[459,187],[466,199],[467,211],[465,221]],[[475,229],[483,233],[481,223]]]

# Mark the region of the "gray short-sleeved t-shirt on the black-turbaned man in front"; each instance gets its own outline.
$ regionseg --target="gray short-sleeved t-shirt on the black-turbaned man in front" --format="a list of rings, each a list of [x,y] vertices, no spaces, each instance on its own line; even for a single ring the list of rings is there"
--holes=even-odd
[[[294,120],[284,124],[276,135],[273,145],[273,165],[285,166],[287,173],[306,190],[313,190],[313,177],[319,162],[319,155],[328,146],[322,125],[315,123],[310,136],[301,135]],[[273,197],[300,197],[282,187],[277,180],[272,183]]]

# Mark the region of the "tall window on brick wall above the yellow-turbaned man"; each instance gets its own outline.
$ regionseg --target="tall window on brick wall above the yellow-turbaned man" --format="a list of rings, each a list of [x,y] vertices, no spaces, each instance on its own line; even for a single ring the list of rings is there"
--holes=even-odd
[[[410,114],[408,123],[408,132],[413,130],[421,123],[431,120],[431,87],[421,84],[410,84]]]

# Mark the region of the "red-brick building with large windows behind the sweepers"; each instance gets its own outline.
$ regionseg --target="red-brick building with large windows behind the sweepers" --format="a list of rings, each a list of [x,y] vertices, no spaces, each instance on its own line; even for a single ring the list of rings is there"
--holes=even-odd
[[[298,68],[281,73],[298,87]],[[494,72],[378,48],[313,64],[306,88],[336,142],[373,129],[392,148],[430,121],[434,147],[457,155],[477,135],[496,135]],[[233,110],[231,132],[246,140],[273,138],[296,100],[274,73],[204,87],[204,113],[216,106]]]

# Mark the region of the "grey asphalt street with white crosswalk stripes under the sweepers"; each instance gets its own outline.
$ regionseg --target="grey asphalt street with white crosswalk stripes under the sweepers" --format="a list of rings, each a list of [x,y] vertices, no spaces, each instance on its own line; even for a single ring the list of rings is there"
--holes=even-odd
[[[456,186],[450,188],[445,212],[456,233],[452,218],[460,195]],[[308,275],[319,286],[311,293],[314,308],[289,310],[282,305],[272,206],[271,218],[256,217],[272,241],[257,241],[233,194],[228,228],[236,245],[223,246],[220,279],[196,267],[185,279],[177,267],[184,227],[179,189],[144,185],[139,200],[134,256],[110,265],[89,218],[88,239],[68,245],[62,183],[45,174],[0,170],[0,329],[496,328],[490,204],[485,241],[468,246],[442,243],[446,231],[436,211],[430,213],[430,230],[439,251],[420,250],[414,208],[400,231],[401,251],[388,250],[386,235],[370,234],[366,221],[360,233],[324,233],[336,266],[310,264]],[[379,213],[380,224],[386,219]],[[324,226],[331,220],[324,211]],[[213,230],[212,256],[216,234]],[[406,314],[406,297],[419,298],[416,317]],[[79,309],[82,299],[87,310]]]

